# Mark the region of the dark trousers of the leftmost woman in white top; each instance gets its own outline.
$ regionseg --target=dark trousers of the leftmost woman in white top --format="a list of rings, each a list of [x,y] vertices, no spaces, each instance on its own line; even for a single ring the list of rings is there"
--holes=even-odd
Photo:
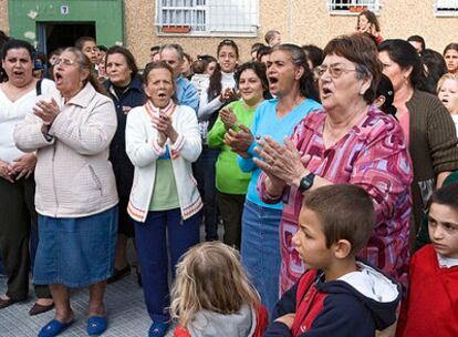
[[[0,177],[0,254],[8,276],[7,296],[24,300],[29,294],[31,225],[37,226],[33,176],[10,183]],[[51,298],[48,286],[35,285],[38,298]]]

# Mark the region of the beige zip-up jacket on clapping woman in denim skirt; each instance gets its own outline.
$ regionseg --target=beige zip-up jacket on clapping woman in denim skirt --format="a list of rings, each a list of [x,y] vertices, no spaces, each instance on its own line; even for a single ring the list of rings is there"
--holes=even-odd
[[[83,217],[117,204],[108,146],[116,131],[113,101],[87,83],[64,104],[52,95],[61,112],[49,134],[42,121],[29,113],[14,130],[15,145],[37,152],[37,212],[51,217]]]

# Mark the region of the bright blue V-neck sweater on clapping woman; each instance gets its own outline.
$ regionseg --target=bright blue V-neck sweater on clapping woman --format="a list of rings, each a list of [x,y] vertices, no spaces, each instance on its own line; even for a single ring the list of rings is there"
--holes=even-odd
[[[321,109],[321,105],[318,102],[306,99],[300,105],[294,108],[290,113],[279,120],[277,116],[278,103],[278,99],[272,99],[261,103],[258,106],[254,113],[254,120],[251,124],[251,132],[254,137],[260,135],[262,139],[264,135],[269,135],[277,142],[283,144],[283,137],[285,135],[290,136],[294,130],[294,126],[303,118],[305,118],[311,111]],[[248,151],[251,156],[257,156],[257,153],[254,152],[256,145],[257,141],[254,140]],[[256,190],[256,184],[258,182],[259,175],[261,174],[261,170],[254,164],[252,157],[243,159],[241,156],[238,156],[237,160],[240,168],[243,172],[252,172],[250,184],[248,185],[247,198],[250,202],[263,207],[282,210],[283,203],[266,204],[259,198],[258,191]]]

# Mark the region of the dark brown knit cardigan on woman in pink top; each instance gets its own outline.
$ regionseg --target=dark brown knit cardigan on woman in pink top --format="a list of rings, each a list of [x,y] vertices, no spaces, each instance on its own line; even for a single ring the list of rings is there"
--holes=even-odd
[[[414,217],[415,227],[419,228],[437,175],[458,170],[458,139],[454,121],[437,96],[415,90],[406,105],[410,118],[409,152],[414,165]]]

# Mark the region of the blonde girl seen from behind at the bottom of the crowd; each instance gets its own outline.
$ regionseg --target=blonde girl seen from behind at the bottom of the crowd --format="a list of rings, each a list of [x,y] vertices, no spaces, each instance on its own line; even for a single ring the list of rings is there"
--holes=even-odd
[[[178,323],[175,337],[262,336],[268,323],[239,253],[220,242],[196,245],[183,256],[170,316]]]

